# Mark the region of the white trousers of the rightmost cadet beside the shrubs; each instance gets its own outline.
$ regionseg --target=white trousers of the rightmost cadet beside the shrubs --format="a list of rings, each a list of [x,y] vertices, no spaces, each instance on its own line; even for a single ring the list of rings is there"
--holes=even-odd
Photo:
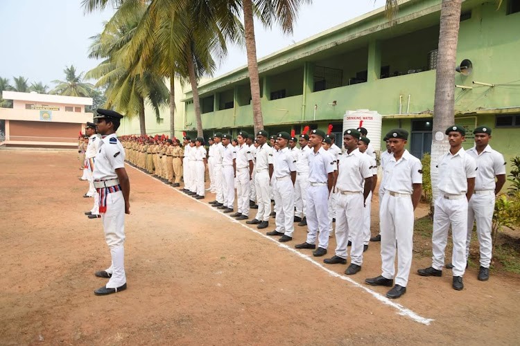
[[[474,194],[469,199],[467,210],[466,258],[469,256],[469,243],[473,232],[473,223],[477,224],[478,244],[480,244],[480,266],[489,268],[492,256],[491,224],[495,208],[494,192]]]

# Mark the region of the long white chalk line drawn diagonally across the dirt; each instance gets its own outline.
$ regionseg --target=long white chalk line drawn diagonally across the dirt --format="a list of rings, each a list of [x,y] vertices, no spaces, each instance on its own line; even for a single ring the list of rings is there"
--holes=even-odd
[[[130,167],[133,167],[133,166],[130,166]],[[133,168],[135,168],[135,167],[133,167]],[[135,168],[135,169],[138,170],[137,168]],[[141,170],[138,170],[138,171],[143,173],[143,174],[145,174],[146,176],[150,176],[150,174],[146,174],[145,172],[142,172]],[[161,181],[159,181],[159,182],[161,182]],[[168,184],[164,184],[164,185],[168,185]],[[177,190],[177,189],[173,189],[173,190],[175,190],[175,191],[177,191],[177,193],[183,195],[183,193],[180,192],[179,190]],[[201,203],[202,205],[204,205],[207,208],[209,208],[209,210],[213,210],[215,212],[218,212],[217,210],[214,210],[213,207],[211,207],[211,205],[209,205],[208,203],[205,203],[205,202],[200,201],[198,199],[193,199],[193,201]],[[303,253],[300,253],[300,251],[297,251],[294,248],[291,248],[290,246],[287,246],[286,244],[278,242],[277,238],[272,238],[272,237],[269,237],[268,235],[264,235],[263,233],[259,232],[258,230],[254,230],[253,228],[250,228],[249,226],[246,226],[245,224],[242,224],[240,221],[233,219],[232,217],[230,217],[227,214],[224,214],[223,212],[218,212],[218,214],[223,215],[224,217],[227,217],[227,219],[231,220],[234,224],[239,224],[243,228],[245,228],[247,230],[250,230],[253,233],[256,233],[257,235],[260,235],[261,237],[263,237],[265,239],[270,240],[270,242],[274,242],[280,248],[285,248],[286,250],[291,251],[292,253],[294,253],[295,255],[299,256],[300,258],[302,258],[302,259],[304,259],[304,260],[306,260],[308,262],[311,262],[311,264],[313,264],[313,265],[317,266],[318,268],[322,269],[322,271],[324,271],[325,273],[331,275],[332,277],[337,277],[340,280],[343,280],[343,281],[351,283],[353,286],[358,287],[358,289],[362,289],[363,291],[365,291],[365,292],[369,293],[370,295],[372,295],[372,297],[376,298],[376,300],[379,300],[383,304],[388,305],[390,307],[393,307],[394,309],[397,309],[397,313],[399,315],[401,315],[401,316],[406,316],[406,317],[414,320],[415,322],[421,323],[422,325],[430,325],[430,323],[434,321],[433,318],[424,318],[422,316],[419,316],[414,311],[412,311],[412,310],[402,306],[401,304],[397,304],[396,302],[390,300],[389,298],[386,298],[384,295],[381,295],[381,293],[377,293],[376,291],[372,291],[372,289],[369,289],[367,286],[363,286],[362,284],[359,284],[358,282],[352,280],[350,277],[340,275],[340,274],[336,273],[335,271],[331,271],[329,268],[323,266],[321,263],[318,263],[315,260],[313,260],[310,256],[304,255]]]

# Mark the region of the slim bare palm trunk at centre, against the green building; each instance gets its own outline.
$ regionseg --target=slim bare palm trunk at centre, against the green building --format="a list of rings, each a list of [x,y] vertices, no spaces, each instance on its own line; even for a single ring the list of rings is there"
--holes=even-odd
[[[253,4],[251,0],[243,0],[242,6],[244,11],[245,51],[248,55],[248,71],[251,86],[253,127],[254,133],[256,134],[259,130],[263,129],[263,116],[260,103],[257,43],[254,39]]]

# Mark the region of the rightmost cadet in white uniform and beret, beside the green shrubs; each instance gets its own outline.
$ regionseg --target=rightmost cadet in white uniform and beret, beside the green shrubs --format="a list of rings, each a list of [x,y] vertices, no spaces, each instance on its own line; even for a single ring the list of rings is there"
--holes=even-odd
[[[480,244],[478,280],[485,281],[489,279],[489,264],[492,255],[491,224],[495,195],[500,192],[505,183],[505,161],[502,154],[487,144],[491,138],[489,127],[477,127],[473,133],[475,146],[466,153],[475,159],[478,169],[475,178],[475,192],[468,204],[466,258],[469,255],[471,233],[474,221],[476,221],[478,243]]]

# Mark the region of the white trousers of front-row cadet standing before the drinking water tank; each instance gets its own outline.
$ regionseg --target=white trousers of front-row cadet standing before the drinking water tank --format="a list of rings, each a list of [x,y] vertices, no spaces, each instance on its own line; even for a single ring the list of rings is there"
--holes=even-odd
[[[363,264],[363,194],[338,194],[336,208],[336,256],[347,259],[347,244],[352,238],[352,263]],[[307,218],[309,219],[309,218]],[[307,221],[309,224],[309,221]]]

